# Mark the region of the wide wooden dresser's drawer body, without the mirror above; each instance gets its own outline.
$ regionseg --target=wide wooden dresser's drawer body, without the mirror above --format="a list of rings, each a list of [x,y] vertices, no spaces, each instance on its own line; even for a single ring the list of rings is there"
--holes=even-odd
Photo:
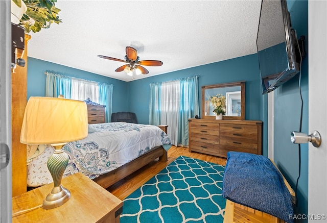
[[[262,121],[189,119],[189,151],[227,157],[237,151],[262,154]]]

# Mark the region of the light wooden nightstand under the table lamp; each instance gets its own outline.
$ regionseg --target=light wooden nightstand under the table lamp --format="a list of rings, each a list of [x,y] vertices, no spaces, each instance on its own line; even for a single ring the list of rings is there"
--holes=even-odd
[[[71,199],[53,208],[37,208],[12,218],[12,222],[119,222],[123,202],[81,173],[63,178]],[[41,205],[53,183],[13,197],[13,213]]]

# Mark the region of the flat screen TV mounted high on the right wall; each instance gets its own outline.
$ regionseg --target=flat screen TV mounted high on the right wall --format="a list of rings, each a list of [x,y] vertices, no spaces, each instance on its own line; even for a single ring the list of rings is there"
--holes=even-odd
[[[285,0],[262,1],[256,47],[263,94],[299,72],[298,42]]]

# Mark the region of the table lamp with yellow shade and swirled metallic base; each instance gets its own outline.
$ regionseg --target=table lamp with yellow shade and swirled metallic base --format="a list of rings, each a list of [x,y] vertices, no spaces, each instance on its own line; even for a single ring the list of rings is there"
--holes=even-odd
[[[69,200],[71,192],[61,185],[69,158],[62,146],[87,136],[87,107],[82,101],[56,97],[30,97],[22,122],[20,142],[50,144],[55,152],[48,159],[54,188],[45,197],[43,209],[56,208]]]

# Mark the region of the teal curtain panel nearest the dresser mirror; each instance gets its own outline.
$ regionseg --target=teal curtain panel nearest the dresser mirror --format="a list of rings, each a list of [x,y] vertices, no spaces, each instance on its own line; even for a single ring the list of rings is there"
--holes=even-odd
[[[198,76],[180,80],[178,142],[189,144],[189,118],[200,115]]]

